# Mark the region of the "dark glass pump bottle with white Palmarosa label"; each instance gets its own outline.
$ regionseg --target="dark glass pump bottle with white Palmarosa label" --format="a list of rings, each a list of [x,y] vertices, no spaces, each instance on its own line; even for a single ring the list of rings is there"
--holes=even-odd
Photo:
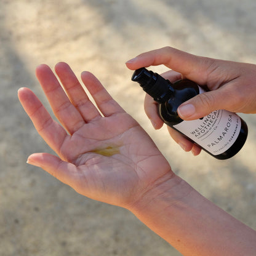
[[[158,114],[168,126],[181,132],[214,158],[231,158],[246,142],[246,122],[235,113],[217,110],[193,121],[184,121],[178,116],[178,106],[204,92],[195,82],[182,79],[172,83],[146,68],[135,70],[132,81],[138,82],[159,103]]]

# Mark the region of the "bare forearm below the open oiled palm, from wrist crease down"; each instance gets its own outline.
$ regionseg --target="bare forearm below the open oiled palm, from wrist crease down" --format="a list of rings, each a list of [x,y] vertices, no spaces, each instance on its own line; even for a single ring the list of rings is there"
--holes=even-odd
[[[254,255],[255,231],[171,172],[129,210],[183,255]]]

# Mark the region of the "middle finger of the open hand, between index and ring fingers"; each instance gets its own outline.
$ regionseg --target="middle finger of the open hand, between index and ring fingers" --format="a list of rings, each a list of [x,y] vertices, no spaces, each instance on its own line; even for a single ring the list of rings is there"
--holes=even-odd
[[[49,100],[55,116],[63,127],[65,127],[70,134],[73,134],[84,125],[84,119],[81,114],[72,105],[49,66],[38,66],[38,68],[36,68],[36,76]]]

